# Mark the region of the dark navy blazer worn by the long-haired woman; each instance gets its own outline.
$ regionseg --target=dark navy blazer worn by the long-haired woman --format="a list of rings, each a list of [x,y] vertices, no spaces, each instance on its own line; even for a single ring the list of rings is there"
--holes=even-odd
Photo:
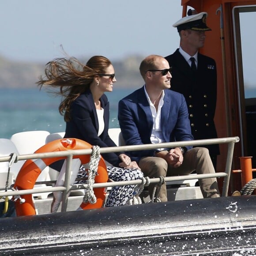
[[[90,90],[85,91],[71,104],[70,115],[71,120],[66,123],[66,132],[64,138],[82,139],[91,145],[99,147],[116,147],[117,145],[110,139],[109,130],[109,102],[105,94],[100,98],[101,106],[104,109],[105,128],[100,136],[98,136],[98,117],[94,100]],[[117,166],[121,162],[117,153],[102,154],[102,157]]]

